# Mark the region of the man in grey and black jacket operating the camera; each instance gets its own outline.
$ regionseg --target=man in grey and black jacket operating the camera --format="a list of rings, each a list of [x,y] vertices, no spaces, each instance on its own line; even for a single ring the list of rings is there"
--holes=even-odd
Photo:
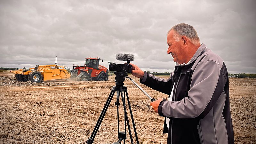
[[[200,44],[188,24],[173,26],[167,35],[168,50],[176,62],[168,80],[143,72],[132,64],[132,75],[169,100],[158,98],[150,106],[165,117],[168,144],[233,144],[228,72],[223,60]]]

